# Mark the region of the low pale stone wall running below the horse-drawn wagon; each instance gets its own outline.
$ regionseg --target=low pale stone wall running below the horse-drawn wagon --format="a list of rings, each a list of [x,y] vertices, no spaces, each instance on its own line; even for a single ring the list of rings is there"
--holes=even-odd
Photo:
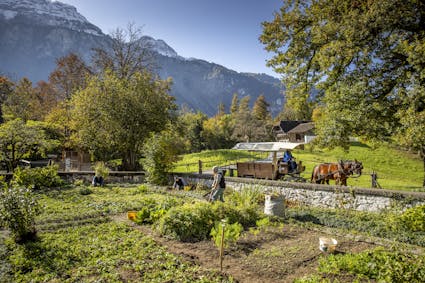
[[[180,174],[190,183],[212,184],[211,175]],[[425,204],[425,192],[406,192],[292,183],[271,180],[226,177],[226,184],[235,190],[256,188],[285,196],[287,201],[327,208],[350,208],[361,211],[380,211],[394,206],[409,208]]]

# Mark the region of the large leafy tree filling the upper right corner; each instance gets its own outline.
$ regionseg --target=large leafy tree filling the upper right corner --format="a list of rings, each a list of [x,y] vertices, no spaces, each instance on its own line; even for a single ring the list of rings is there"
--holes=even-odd
[[[289,99],[308,108],[319,91],[318,143],[396,139],[420,152],[425,173],[425,131],[414,123],[425,109],[424,21],[423,1],[286,0],[260,40]]]

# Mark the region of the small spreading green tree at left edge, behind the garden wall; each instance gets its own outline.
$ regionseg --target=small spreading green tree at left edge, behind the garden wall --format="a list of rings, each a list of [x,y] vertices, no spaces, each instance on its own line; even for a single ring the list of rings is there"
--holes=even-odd
[[[50,146],[43,130],[36,124],[21,119],[0,125],[0,159],[13,171],[24,157],[43,155]]]

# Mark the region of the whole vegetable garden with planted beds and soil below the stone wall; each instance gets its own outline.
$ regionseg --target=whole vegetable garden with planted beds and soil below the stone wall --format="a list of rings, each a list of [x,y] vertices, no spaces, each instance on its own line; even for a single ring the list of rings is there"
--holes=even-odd
[[[255,187],[225,203],[195,191],[84,184],[34,191],[37,237],[0,230],[1,282],[422,282],[425,207],[380,214],[286,203],[262,213]],[[127,211],[137,211],[134,221]],[[224,229],[220,271],[220,223]],[[318,239],[338,239],[334,254]]]

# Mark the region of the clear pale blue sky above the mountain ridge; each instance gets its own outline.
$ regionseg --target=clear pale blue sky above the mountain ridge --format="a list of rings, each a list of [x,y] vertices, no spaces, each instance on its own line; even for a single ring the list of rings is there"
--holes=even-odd
[[[203,59],[237,72],[279,78],[266,60],[273,56],[258,38],[282,0],[59,0],[77,8],[110,34],[129,23],[143,35],[164,40],[180,56]]]

